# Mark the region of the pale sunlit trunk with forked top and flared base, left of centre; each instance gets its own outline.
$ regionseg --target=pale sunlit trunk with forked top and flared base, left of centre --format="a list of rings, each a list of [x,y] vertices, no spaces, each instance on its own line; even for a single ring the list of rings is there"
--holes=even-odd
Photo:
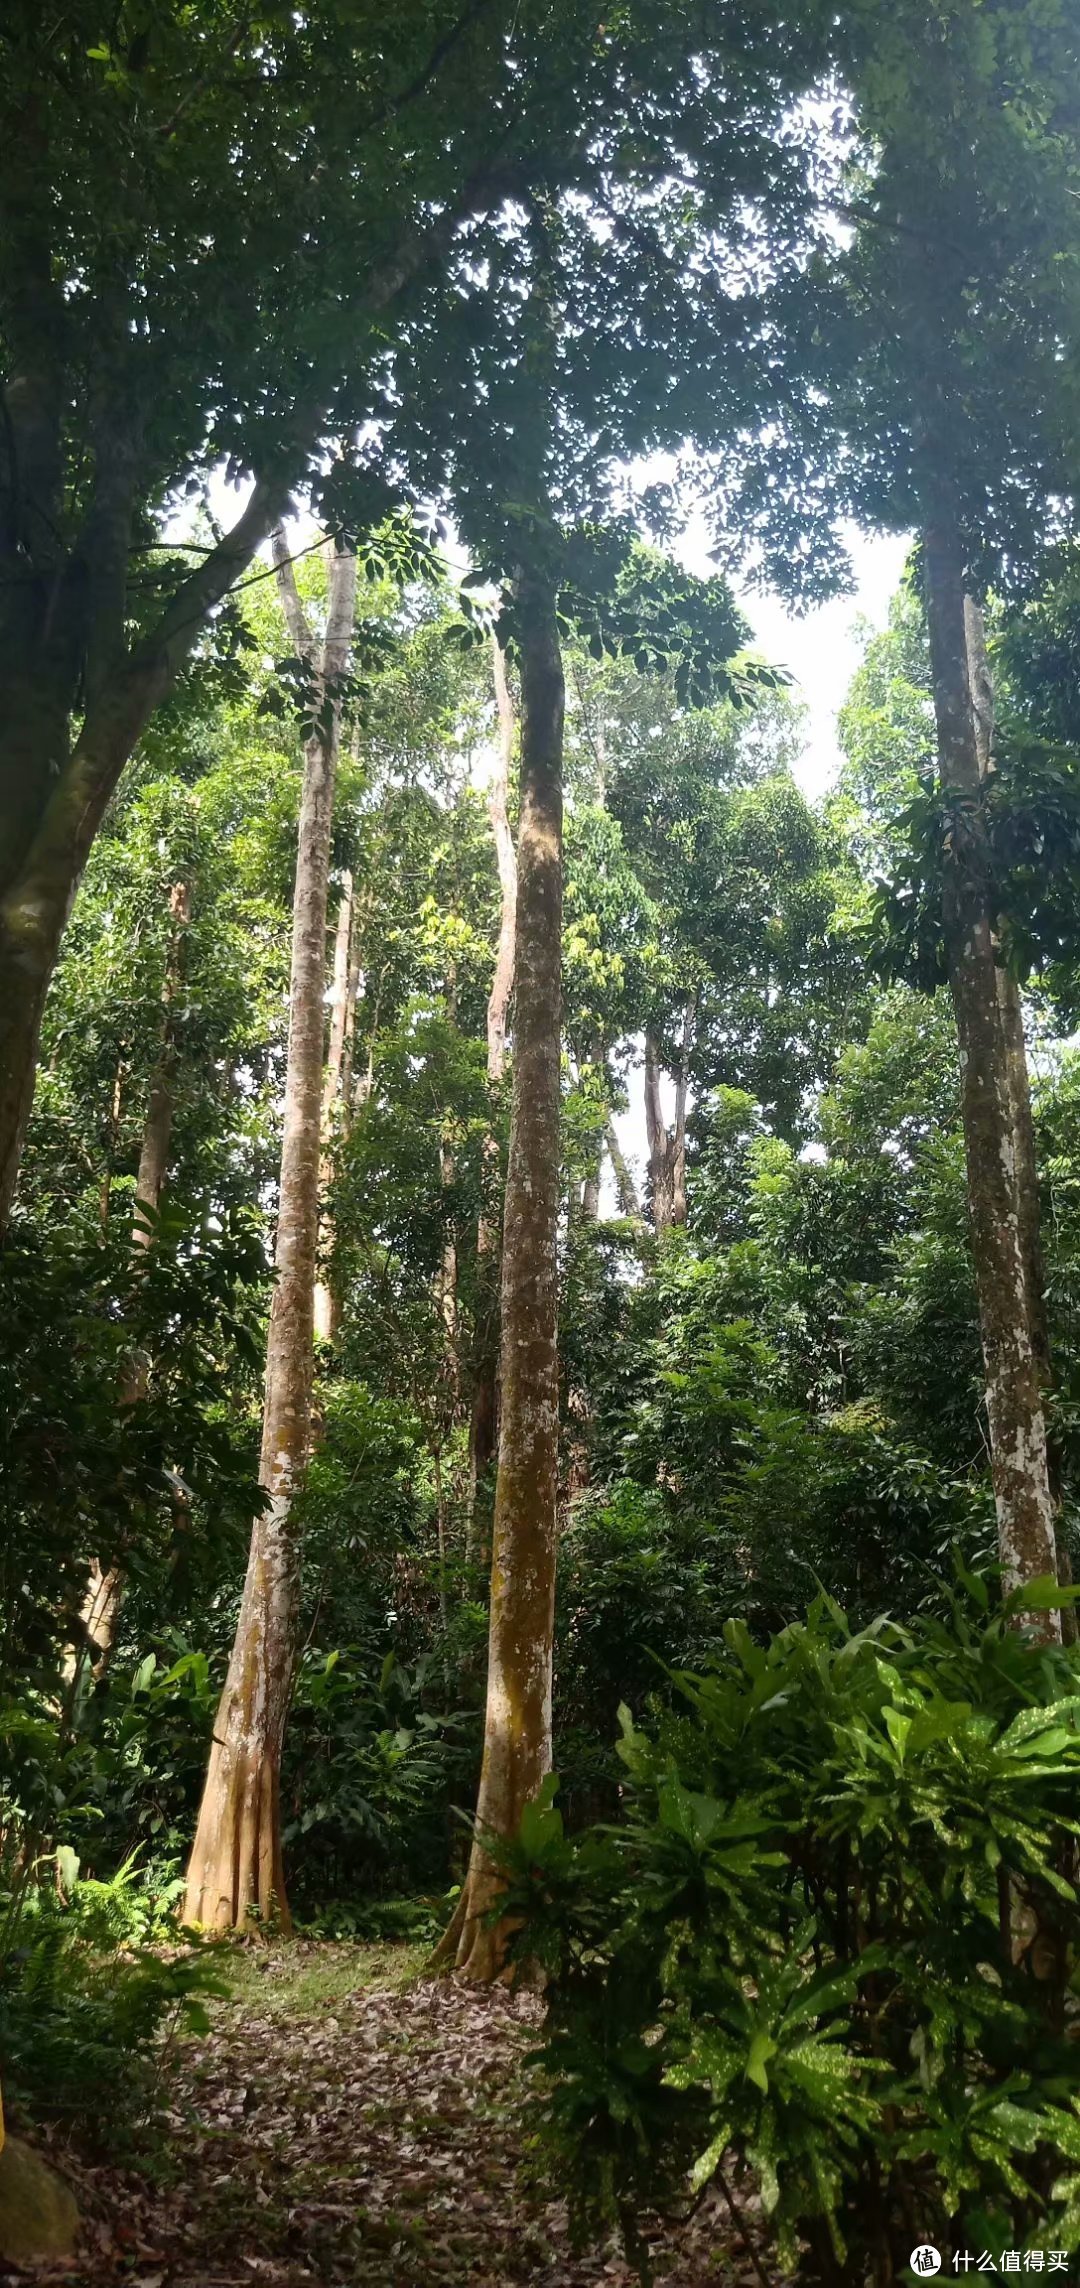
[[[281,602],[300,657],[316,668],[316,645],[275,531]],[[240,1929],[249,1913],[291,1926],[281,1867],[281,1741],[295,1659],[297,1549],[293,1503],[311,1441],[313,1302],[318,1258],[318,1174],[323,1146],[323,993],[327,959],[327,879],[334,773],[341,728],[336,698],[346,670],[357,595],[355,556],[329,549],[327,631],[316,686],[320,728],[304,748],[293,968],[277,1210],[277,1286],[265,1345],[263,1448],[265,1508],[252,1551],[224,1693],[188,1867],[183,1920],[211,1931]]]

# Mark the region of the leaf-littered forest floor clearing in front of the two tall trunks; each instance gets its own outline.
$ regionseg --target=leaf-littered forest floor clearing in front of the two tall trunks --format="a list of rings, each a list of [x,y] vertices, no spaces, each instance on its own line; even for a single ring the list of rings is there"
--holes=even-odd
[[[529,2158],[531,1995],[421,1977],[405,1947],[245,1949],[167,2064],[158,2169],[69,2167],[71,2288],[632,2288],[574,2254]],[[105,2100],[108,2103],[108,2100]],[[59,2155],[57,2155],[59,2160]],[[66,2158],[64,2158],[66,2164]],[[716,2208],[650,2231],[668,2288],[757,2288]]]

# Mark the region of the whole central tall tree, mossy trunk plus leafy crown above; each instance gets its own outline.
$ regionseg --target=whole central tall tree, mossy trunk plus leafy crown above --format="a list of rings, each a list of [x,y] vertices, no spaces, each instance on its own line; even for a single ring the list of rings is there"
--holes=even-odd
[[[686,375],[700,357],[714,359],[716,327],[725,336],[725,371],[730,410],[748,416],[748,368],[739,350],[748,332],[739,265],[746,252],[748,201],[769,208],[767,236],[789,247],[792,224],[805,210],[805,144],[778,135],[796,87],[812,78],[821,62],[821,18],[808,11],[799,27],[780,11],[767,25],[744,25],[741,43],[732,41],[723,18],[696,18],[693,94],[684,96],[684,114],[668,128],[664,162],[650,165],[650,199],[641,201],[641,172],[634,158],[636,135],[618,151],[597,153],[588,197],[561,197],[556,183],[545,183],[522,199],[517,229],[501,222],[478,224],[462,233],[458,270],[442,279],[435,297],[416,297],[416,313],[403,329],[396,357],[389,362],[384,400],[387,446],[410,469],[421,496],[453,501],[467,545],[478,556],[485,577],[510,577],[522,645],[535,675],[533,705],[540,725],[551,714],[542,693],[554,686],[551,615],[579,620],[599,645],[627,648],[645,661],[682,657],[686,689],[709,686],[702,666],[705,622],[721,636],[712,661],[723,677],[741,625],[723,583],[698,583],[691,599],[686,583],[668,567],[666,579],[650,577],[620,586],[627,561],[629,519],[625,515],[625,462],[673,439],[673,375]],[[659,117],[652,101],[634,94],[636,128],[643,128],[652,153]],[[684,82],[686,87],[686,82]],[[730,119],[741,119],[732,140]],[[673,149],[686,151],[686,167],[673,169]],[[693,158],[691,158],[693,149]],[[702,153],[709,169],[700,169]],[[686,190],[700,169],[700,194]],[[707,243],[709,295],[686,295],[689,247]],[[730,256],[730,261],[728,261]],[[783,254],[780,254],[783,259]],[[721,284],[723,281],[723,284]],[[705,313],[707,302],[707,313]],[[709,348],[712,345],[712,348]],[[753,375],[757,384],[757,373]],[[613,515],[616,501],[622,517]],[[650,494],[654,515],[664,503]],[[529,611],[526,611],[529,606]],[[526,615],[533,627],[526,629]],[[696,652],[698,675],[691,664]],[[680,673],[680,670],[677,670]],[[561,682],[561,675],[558,675]],[[734,677],[730,677],[734,682]],[[540,753],[540,746],[538,746]],[[538,831],[551,837],[551,824],[538,796]],[[554,849],[554,860],[558,851]],[[540,869],[538,869],[540,879]],[[554,988],[554,954],[540,959],[529,945],[542,906],[524,899],[524,858],[519,853],[517,895],[517,993],[526,993],[526,970],[549,966]],[[526,1034],[529,1057],[558,1059],[558,1004],[551,993],[547,1009],[547,1046],[542,1030]],[[515,1027],[519,1018],[515,1016]],[[531,1023],[531,1020],[529,1020]],[[517,1030],[515,1030],[517,1046]],[[526,1123],[535,1119],[542,1151],[554,1151],[556,1128],[540,1091],[529,1105],[519,1094],[515,1071],[517,1155],[529,1162]],[[540,1185],[540,1165],[531,1169]],[[547,1345],[554,1359],[554,1325],[549,1327],[547,1261],[554,1263],[556,1231],[547,1233],[551,1199],[558,1192],[558,1169],[545,1160],[535,1213],[524,1222],[503,1222],[503,1421],[497,1480],[497,1549],[492,1565],[487,1753],[481,1780],[481,1826],[499,1810],[501,1833],[513,1814],[513,1789],[524,1773],[540,1773],[547,1746],[547,1693],[551,1675],[551,1581],[554,1574],[554,1492],[558,1414],[547,1405]],[[510,1258],[506,1258],[510,1247]],[[524,1265],[533,1256],[533,1268]],[[529,1393],[513,1359],[517,1284],[535,1284],[535,1391]],[[522,1352],[524,1357],[524,1352]],[[515,1416],[510,1416],[510,1389]],[[535,1499],[522,1476],[529,1455],[535,1487],[551,1512],[540,1528]],[[503,1485],[506,1480],[506,1485]],[[515,1531],[519,1556],[515,1558]],[[526,1567],[542,1551],[542,1572],[531,1581],[513,1581],[510,1567]],[[545,1638],[513,1643],[501,1629],[499,1608],[522,1599]],[[501,1666],[503,1654],[515,1670]],[[519,1725],[508,1695],[517,1677],[522,1707],[529,1707],[535,1739],[513,1750],[508,1723]],[[545,1682],[547,1679],[547,1682]],[[510,1778],[508,1778],[510,1775]],[[515,1778],[517,1775],[517,1778]],[[501,1943],[478,1924],[474,1897],[487,1899],[490,1867],[474,1856],[469,1883],[455,1922],[460,1963],[471,1975],[490,1975]]]

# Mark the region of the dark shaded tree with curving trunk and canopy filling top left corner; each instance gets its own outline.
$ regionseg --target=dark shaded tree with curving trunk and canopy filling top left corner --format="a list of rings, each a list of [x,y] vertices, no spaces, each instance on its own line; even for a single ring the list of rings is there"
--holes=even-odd
[[[14,0],[2,41],[0,1226],[59,936],[153,709],[295,487],[334,526],[384,503],[387,336],[460,224],[618,149],[616,57],[657,64],[650,167],[693,98],[650,0],[616,30],[563,0]],[[327,478],[357,428],[364,467]],[[252,480],[233,526],[162,547],[222,462]]]

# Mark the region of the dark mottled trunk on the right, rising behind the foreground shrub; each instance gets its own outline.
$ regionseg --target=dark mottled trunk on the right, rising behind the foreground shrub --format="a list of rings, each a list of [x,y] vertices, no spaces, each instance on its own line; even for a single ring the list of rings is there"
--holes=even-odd
[[[1046,1453],[1041,1345],[1030,1304],[1030,1249],[1018,1213],[1016,1066],[1009,1062],[998,984],[963,556],[959,519],[945,487],[927,513],[922,538],[940,782],[945,796],[954,801],[943,922],[961,1055],[968,1208],[998,1544],[1004,1588],[1011,1590],[1039,1574],[1055,1574],[1055,1503]],[[1046,1638],[1059,1638],[1059,1613],[1037,1615],[1032,1627]]]

